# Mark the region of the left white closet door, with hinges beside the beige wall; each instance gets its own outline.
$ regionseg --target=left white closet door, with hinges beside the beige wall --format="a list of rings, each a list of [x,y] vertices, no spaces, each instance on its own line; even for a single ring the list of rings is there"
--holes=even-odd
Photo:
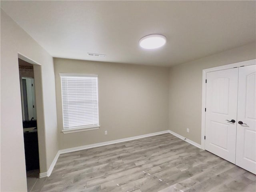
[[[206,78],[205,149],[235,163],[238,68],[208,72]]]

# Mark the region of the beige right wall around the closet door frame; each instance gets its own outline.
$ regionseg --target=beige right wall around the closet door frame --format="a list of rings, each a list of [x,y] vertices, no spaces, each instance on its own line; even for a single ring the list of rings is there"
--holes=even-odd
[[[170,68],[169,128],[201,144],[202,70],[255,59],[255,43]],[[189,128],[190,132],[186,132]]]

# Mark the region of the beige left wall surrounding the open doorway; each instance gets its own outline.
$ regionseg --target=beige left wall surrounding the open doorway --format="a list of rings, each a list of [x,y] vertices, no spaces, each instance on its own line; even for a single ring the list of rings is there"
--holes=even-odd
[[[40,171],[58,152],[53,59],[1,9],[1,191],[27,191],[18,53],[34,65]]]

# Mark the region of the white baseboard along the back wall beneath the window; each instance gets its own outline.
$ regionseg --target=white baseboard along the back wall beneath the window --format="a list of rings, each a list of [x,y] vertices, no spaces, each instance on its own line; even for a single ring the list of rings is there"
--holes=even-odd
[[[128,137],[128,138],[123,138],[123,139],[118,139],[118,140],[106,141],[106,142],[101,142],[101,143],[95,143],[95,144],[90,144],[90,145],[84,145],[84,146],[80,146],[80,147],[62,149],[62,150],[59,150],[59,152],[60,152],[60,154],[64,154],[64,153],[69,153],[69,152],[74,152],[74,151],[79,151],[79,150],[84,150],[84,149],[90,149],[90,148],[94,148],[94,147],[100,147],[100,146],[111,145],[111,144],[120,143],[120,142],[136,140],[136,139],[145,138],[145,137],[151,137],[151,136],[165,134],[165,133],[169,133],[169,130],[145,134],[145,135],[139,135],[139,136],[134,136],[134,137]]]

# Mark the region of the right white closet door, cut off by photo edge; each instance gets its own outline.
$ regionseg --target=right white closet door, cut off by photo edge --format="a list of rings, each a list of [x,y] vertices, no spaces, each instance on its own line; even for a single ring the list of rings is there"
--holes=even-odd
[[[236,165],[256,174],[255,65],[239,68],[237,120]]]

